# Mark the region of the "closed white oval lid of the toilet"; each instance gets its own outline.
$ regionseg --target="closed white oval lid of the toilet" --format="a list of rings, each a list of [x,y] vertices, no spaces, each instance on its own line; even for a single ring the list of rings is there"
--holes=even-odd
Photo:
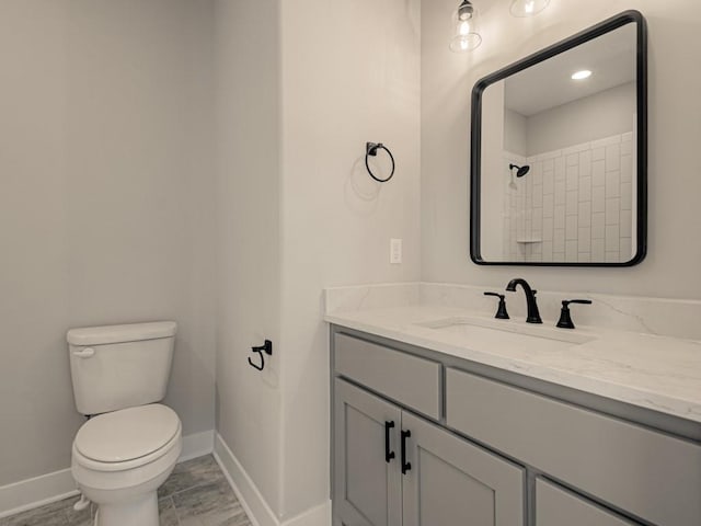
[[[100,414],[85,422],[74,445],[99,462],[124,462],[149,455],[180,433],[175,411],[160,403]]]

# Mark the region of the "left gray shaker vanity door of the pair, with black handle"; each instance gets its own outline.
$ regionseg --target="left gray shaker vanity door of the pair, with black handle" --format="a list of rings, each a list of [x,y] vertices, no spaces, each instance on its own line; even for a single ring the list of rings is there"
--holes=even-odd
[[[401,411],[350,384],[335,380],[334,521],[344,526],[401,526]],[[386,423],[390,428],[386,460]],[[336,524],[334,523],[334,524]]]

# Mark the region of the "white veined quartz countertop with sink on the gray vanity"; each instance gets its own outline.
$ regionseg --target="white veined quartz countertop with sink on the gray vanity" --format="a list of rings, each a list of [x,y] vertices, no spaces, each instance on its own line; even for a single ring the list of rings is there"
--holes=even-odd
[[[550,335],[553,331],[563,331],[567,333],[565,339],[588,341],[549,345],[550,342],[514,333],[495,341],[491,331],[478,330],[467,335],[422,325],[451,318],[483,320],[492,327],[497,327],[495,322],[504,323],[509,331],[530,331],[531,335],[537,334],[533,331],[539,328]],[[533,325],[519,320],[494,320],[462,308],[427,305],[333,312],[324,320],[701,422],[701,342],[698,341],[590,327],[553,329],[553,320]]]

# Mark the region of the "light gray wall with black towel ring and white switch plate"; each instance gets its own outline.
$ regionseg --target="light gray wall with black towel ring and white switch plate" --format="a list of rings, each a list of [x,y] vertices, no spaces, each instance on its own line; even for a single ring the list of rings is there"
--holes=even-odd
[[[323,287],[420,277],[421,4],[281,7],[281,513],[294,516],[329,499]],[[388,183],[365,170],[368,140],[397,159]],[[401,265],[390,238],[404,240]]]

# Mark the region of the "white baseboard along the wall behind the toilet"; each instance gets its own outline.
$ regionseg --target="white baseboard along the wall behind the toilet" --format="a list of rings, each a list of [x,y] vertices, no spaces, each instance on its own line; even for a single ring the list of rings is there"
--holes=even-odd
[[[183,437],[179,462],[214,451],[214,430]],[[78,495],[70,468],[0,487],[0,518]]]

